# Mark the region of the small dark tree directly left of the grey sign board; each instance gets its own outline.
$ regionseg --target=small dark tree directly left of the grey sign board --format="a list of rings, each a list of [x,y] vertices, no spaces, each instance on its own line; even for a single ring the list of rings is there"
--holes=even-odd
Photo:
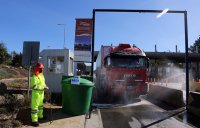
[[[15,51],[13,51],[12,53],[12,65],[13,66],[22,66],[22,53],[16,53]]]

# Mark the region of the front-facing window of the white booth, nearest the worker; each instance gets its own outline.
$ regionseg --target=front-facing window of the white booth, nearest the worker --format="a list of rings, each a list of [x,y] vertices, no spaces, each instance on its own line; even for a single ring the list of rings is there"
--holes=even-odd
[[[64,56],[49,56],[48,72],[64,73]]]

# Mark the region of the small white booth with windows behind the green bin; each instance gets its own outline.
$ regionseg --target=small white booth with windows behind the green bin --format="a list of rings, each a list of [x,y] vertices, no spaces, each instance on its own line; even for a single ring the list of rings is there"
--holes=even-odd
[[[49,91],[60,93],[63,75],[73,75],[74,55],[69,49],[45,49],[40,52],[44,76]]]

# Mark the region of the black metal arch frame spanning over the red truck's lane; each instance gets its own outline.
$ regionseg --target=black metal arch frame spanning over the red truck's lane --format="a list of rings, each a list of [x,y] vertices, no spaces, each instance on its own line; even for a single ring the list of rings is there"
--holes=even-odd
[[[92,33],[92,66],[91,76],[93,77],[94,68],[94,38],[95,38],[95,14],[96,12],[138,12],[138,13],[161,13],[163,10],[126,10],[126,9],[93,9],[93,33]],[[188,65],[188,23],[187,11],[168,10],[167,13],[177,13],[184,15],[184,28],[185,28],[185,64],[186,64],[186,110],[188,110],[188,97],[189,97],[189,65]]]

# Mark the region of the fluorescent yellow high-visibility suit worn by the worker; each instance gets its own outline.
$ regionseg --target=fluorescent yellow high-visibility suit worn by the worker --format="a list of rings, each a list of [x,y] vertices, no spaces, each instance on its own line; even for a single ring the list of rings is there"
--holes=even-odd
[[[33,75],[31,78],[31,119],[32,122],[38,122],[38,118],[43,118],[43,99],[45,78],[43,74]]]

